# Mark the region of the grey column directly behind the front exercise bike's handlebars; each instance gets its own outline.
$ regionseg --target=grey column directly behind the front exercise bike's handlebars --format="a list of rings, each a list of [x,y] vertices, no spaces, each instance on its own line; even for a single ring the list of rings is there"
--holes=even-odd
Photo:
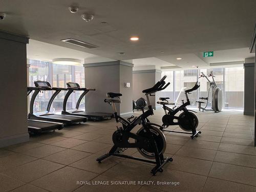
[[[142,93],[144,89],[153,87],[157,81],[161,79],[160,70],[139,70],[133,71],[133,99],[137,100],[139,98],[146,99],[145,95]],[[155,96],[151,96],[151,104],[153,109],[161,108],[161,105],[157,104],[160,93],[156,93]]]

